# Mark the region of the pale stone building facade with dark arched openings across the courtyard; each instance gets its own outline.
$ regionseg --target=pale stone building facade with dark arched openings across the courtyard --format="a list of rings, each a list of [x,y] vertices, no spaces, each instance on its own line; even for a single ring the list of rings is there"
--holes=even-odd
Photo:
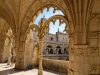
[[[37,32],[33,31],[33,42],[37,42]],[[43,54],[66,54],[68,52],[68,34],[56,32],[56,34],[46,33],[44,37]],[[60,50],[60,51],[59,51]]]

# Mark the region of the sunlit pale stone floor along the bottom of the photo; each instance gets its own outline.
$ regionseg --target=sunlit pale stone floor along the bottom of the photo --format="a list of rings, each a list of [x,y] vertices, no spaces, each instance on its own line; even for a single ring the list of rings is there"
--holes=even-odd
[[[38,75],[37,69],[18,71],[7,64],[0,64],[0,75]],[[53,73],[50,71],[43,71],[43,75],[64,75],[62,73]]]

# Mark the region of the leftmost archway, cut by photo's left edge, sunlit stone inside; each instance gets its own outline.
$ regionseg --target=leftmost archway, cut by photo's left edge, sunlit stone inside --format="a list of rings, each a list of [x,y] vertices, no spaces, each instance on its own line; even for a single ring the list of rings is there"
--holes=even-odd
[[[0,17],[0,63],[14,66],[16,63],[15,36],[11,25]]]

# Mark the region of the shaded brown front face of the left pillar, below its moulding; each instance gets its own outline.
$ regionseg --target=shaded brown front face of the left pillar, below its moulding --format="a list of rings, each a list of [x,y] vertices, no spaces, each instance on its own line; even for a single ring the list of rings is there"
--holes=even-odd
[[[19,42],[20,47],[16,50],[16,69],[25,69],[25,41]]]

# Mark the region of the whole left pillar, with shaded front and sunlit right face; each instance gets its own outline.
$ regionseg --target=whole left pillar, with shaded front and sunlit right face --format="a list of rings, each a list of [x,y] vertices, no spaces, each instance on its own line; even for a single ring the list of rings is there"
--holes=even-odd
[[[17,33],[15,34],[15,47],[16,47],[15,68],[26,69],[27,67],[30,67],[30,65],[32,66],[32,49],[33,49],[33,43],[32,43],[33,40],[31,38],[32,35],[30,36],[30,33],[27,34],[24,33],[24,31],[20,32],[19,30],[17,30],[16,32]],[[27,37],[29,37],[28,40]]]

